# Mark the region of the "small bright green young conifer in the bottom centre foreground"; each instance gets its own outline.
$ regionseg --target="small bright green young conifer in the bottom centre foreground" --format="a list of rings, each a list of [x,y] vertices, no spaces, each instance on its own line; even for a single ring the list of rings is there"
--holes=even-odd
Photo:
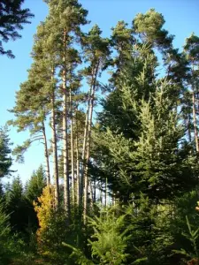
[[[125,216],[116,216],[114,209],[101,210],[100,216],[89,219],[88,225],[94,230],[88,244],[91,246],[92,256],[100,264],[124,264],[126,261],[127,230],[124,227]]]

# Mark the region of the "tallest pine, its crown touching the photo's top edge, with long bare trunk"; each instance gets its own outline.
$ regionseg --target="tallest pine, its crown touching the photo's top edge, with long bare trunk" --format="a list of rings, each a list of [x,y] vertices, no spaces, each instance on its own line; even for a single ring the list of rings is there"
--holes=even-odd
[[[73,81],[70,77],[73,67],[78,63],[78,52],[71,48],[74,43],[74,36],[80,36],[80,26],[87,23],[87,13],[81,7],[78,1],[47,1],[50,7],[51,34],[57,35],[56,55],[59,58],[59,76],[62,79],[62,96],[63,96],[63,156],[64,156],[64,193],[65,193],[65,210],[70,216],[70,189],[69,189],[69,139],[68,139],[68,123],[69,123],[69,102],[70,102],[70,84]],[[73,57],[74,53],[77,55]],[[71,108],[72,108],[71,104]],[[73,125],[73,121],[72,121]],[[73,138],[73,132],[71,134]],[[73,140],[72,140],[73,142]],[[72,145],[73,147],[73,145]],[[73,152],[72,152],[73,157]],[[72,184],[74,182],[72,181]],[[74,185],[73,185],[74,188]],[[74,194],[74,192],[73,192]],[[73,195],[74,200],[74,195]]]

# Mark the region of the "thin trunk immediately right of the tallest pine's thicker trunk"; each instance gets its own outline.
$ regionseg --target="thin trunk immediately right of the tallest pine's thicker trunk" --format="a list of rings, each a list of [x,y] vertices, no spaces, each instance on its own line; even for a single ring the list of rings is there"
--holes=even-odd
[[[71,177],[72,177],[72,201],[74,199],[74,146],[73,146],[73,102],[72,102],[72,89],[70,87],[70,112],[71,112]]]

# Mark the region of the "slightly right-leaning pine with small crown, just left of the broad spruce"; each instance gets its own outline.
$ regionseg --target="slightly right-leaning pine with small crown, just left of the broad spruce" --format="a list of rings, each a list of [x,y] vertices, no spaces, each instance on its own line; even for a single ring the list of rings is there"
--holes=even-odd
[[[91,28],[88,34],[83,36],[82,38],[85,61],[88,64],[88,66],[86,66],[82,73],[86,76],[89,86],[88,107],[86,112],[84,139],[81,155],[82,169],[80,194],[82,196],[82,191],[84,188],[84,222],[86,222],[86,216],[88,214],[88,187],[91,187],[90,180],[88,179],[88,163],[90,160],[91,128],[96,100],[96,90],[99,87],[97,78],[102,74],[103,67],[110,56],[109,40],[102,38],[101,34],[102,31],[97,25],[95,25]]]

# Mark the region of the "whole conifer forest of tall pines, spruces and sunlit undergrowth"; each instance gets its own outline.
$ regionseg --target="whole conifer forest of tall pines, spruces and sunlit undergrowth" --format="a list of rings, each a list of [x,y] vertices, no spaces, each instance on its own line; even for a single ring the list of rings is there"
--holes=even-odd
[[[0,0],[0,60],[34,19],[24,2]],[[199,36],[176,49],[151,7],[104,37],[81,1],[43,2],[0,124],[0,264],[198,265]],[[27,139],[13,147],[11,128]],[[35,142],[25,184],[15,171]]]

